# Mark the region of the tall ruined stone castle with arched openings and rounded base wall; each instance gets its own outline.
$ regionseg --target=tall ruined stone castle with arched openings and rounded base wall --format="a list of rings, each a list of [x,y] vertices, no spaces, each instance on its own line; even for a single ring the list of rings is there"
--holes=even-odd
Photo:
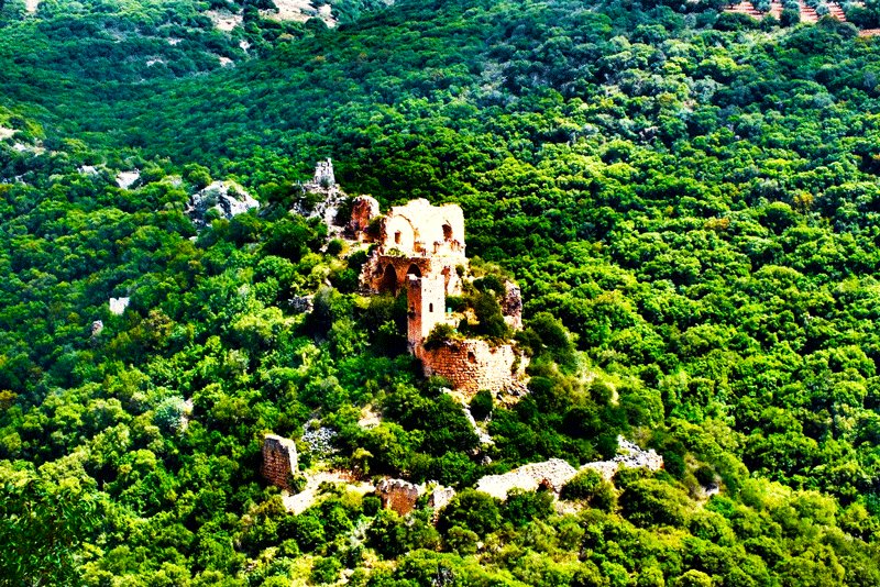
[[[525,373],[526,361],[510,344],[457,339],[431,350],[424,345],[435,326],[454,328],[457,322],[447,311],[446,300],[447,296],[461,295],[468,272],[461,208],[418,199],[376,217],[375,200],[362,198],[354,203],[349,228],[355,239],[377,246],[361,270],[361,285],[373,294],[396,296],[406,291],[407,343],[409,352],[421,359],[425,375],[443,376],[466,394],[518,389],[516,381]],[[380,218],[376,233],[369,234],[375,218]],[[505,321],[521,328],[522,300],[515,284],[508,281],[503,301],[509,312]]]

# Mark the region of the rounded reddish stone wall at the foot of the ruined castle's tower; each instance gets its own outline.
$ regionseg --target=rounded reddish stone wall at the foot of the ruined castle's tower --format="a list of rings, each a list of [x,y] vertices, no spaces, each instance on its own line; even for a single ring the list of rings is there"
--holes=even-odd
[[[451,341],[430,351],[419,346],[425,375],[440,375],[466,394],[488,389],[504,391],[525,368],[525,359],[509,344],[490,346],[486,341]],[[518,366],[517,366],[518,364]]]

